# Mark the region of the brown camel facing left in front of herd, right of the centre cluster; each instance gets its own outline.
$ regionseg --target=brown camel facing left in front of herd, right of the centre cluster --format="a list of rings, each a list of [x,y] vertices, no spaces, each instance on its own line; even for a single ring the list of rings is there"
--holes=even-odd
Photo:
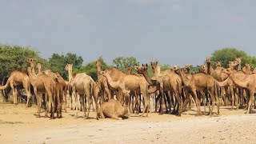
[[[212,101],[211,110],[209,113],[210,115],[214,110],[215,99],[216,99],[217,114],[219,114],[219,99],[217,94],[218,83],[215,81],[215,79],[209,74],[205,74],[205,73],[193,74],[192,78],[187,78],[183,69],[180,70],[180,74],[182,76],[182,81],[184,82],[185,86],[187,86],[190,89],[190,92],[194,97],[194,101],[198,109],[198,115],[201,115],[201,110],[200,110],[196,90],[198,91],[207,90],[207,92],[210,94],[210,98]]]

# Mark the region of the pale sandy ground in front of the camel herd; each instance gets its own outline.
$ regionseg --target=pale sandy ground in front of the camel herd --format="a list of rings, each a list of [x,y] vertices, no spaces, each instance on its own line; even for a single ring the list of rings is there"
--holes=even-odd
[[[121,121],[82,118],[68,109],[63,118],[35,118],[36,106],[0,103],[0,143],[255,143],[256,114],[221,107],[220,116],[195,117],[189,110],[176,117],[150,113],[131,114]],[[216,108],[215,108],[216,110]],[[41,114],[42,116],[44,113]]]

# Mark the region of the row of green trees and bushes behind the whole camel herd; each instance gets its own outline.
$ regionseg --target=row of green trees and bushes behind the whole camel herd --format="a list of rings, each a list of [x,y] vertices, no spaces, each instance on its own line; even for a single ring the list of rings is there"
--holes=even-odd
[[[29,64],[25,61],[25,58],[34,58],[36,62],[42,63],[42,70],[52,70],[53,72],[58,72],[63,78],[68,77],[66,70],[64,70],[67,63],[73,64],[74,73],[86,72],[94,80],[97,80],[97,72],[94,65],[96,60],[102,62],[102,70],[106,68],[111,68],[113,66],[118,67],[118,69],[126,72],[126,67],[128,66],[138,66],[139,62],[134,57],[118,57],[112,60],[112,64],[107,64],[101,57],[95,59],[94,62],[87,62],[83,65],[83,59],[77,54],[67,53],[67,54],[52,54],[50,58],[45,59],[40,56],[40,52],[31,48],[30,46],[13,46],[13,45],[2,45],[0,44],[0,78],[9,76],[14,70],[26,71]],[[215,50],[211,55],[212,62],[220,61],[223,67],[228,67],[229,61],[234,61],[234,58],[242,58],[242,66],[246,63],[256,66],[256,58],[249,54],[246,54],[243,50],[238,50],[237,48],[222,48],[220,50]],[[201,64],[203,64],[202,62]],[[191,71],[195,72],[198,70],[198,66],[192,66]],[[152,68],[149,65],[148,71],[150,76],[153,76]],[[170,69],[170,65],[162,64],[162,70]]]

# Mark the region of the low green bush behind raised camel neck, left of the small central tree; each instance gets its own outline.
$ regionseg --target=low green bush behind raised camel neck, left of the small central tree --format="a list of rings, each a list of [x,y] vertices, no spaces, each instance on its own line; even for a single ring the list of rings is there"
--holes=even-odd
[[[98,60],[102,63],[102,70],[106,70],[106,68],[109,68],[104,62],[102,57],[99,57]],[[74,70],[74,73],[82,73],[85,72],[86,74],[90,75],[91,78],[94,79],[94,81],[97,81],[98,74],[95,66],[95,61],[87,63],[85,66],[82,66],[79,70]]]

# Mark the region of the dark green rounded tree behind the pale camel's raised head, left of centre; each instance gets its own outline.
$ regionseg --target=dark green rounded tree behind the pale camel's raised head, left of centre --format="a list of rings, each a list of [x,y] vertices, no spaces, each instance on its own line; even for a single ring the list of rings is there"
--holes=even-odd
[[[67,63],[73,64],[73,70],[78,70],[82,66],[82,57],[77,54],[68,53],[66,55],[63,54],[52,54],[51,58],[49,58],[50,70],[53,72],[58,72],[62,75],[63,78],[68,77],[65,66]]]

